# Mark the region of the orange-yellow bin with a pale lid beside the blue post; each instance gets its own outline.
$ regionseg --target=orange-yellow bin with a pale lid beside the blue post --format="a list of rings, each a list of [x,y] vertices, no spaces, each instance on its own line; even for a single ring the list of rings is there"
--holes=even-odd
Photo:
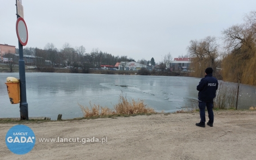
[[[20,103],[20,80],[15,77],[7,77],[7,91],[11,104]]]

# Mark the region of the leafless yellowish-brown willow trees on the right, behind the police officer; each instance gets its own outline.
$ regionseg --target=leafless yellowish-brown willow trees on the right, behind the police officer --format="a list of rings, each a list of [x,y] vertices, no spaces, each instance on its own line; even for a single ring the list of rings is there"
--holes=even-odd
[[[235,24],[222,31],[223,47],[214,36],[191,40],[187,47],[192,57],[193,76],[204,76],[206,67],[221,67],[223,80],[256,85],[256,11],[244,18],[244,23]]]

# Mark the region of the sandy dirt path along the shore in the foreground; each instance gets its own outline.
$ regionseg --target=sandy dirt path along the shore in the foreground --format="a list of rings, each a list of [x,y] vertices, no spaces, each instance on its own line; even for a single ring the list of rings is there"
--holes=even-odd
[[[207,119],[207,118],[206,118]],[[255,159],[256,112],[215,112],[214,127],[199,113],[155,114],[26,124],[36,143],[26,155],[5,145],[15,124],[0,124],[0,159]],[[105,143],[40,143],[38,138],[106,138]]]

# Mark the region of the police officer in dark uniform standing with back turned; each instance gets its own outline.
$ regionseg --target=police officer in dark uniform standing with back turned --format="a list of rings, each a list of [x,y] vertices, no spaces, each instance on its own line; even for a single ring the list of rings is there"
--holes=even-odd
[[[218,80],[212,77],[212,72],[214,70],[208,67],[205,70],[205,77],[201,79],[197,85],[198,93],[198,107],[200,109],[200,122],[196,124],[198,127],[205,127],[205,106],[208,111],[209,121],[207,125],[213,127],[214,124],[214,98],[216,96],[216,90],[218,89]]]

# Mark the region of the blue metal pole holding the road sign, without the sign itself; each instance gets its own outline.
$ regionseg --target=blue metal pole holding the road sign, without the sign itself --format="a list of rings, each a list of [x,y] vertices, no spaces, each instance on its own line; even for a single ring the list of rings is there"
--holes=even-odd
[[[16,11],[17,11],[17,0],[16,0]],[[20,16],[17,12],[17,19]],[[19,76],[20,76],[20,116],[21,120],[28,120],[28,103],[26,93],[26,75],[25,75],[25,60],[23,59],[23,46],[19,41]]]

